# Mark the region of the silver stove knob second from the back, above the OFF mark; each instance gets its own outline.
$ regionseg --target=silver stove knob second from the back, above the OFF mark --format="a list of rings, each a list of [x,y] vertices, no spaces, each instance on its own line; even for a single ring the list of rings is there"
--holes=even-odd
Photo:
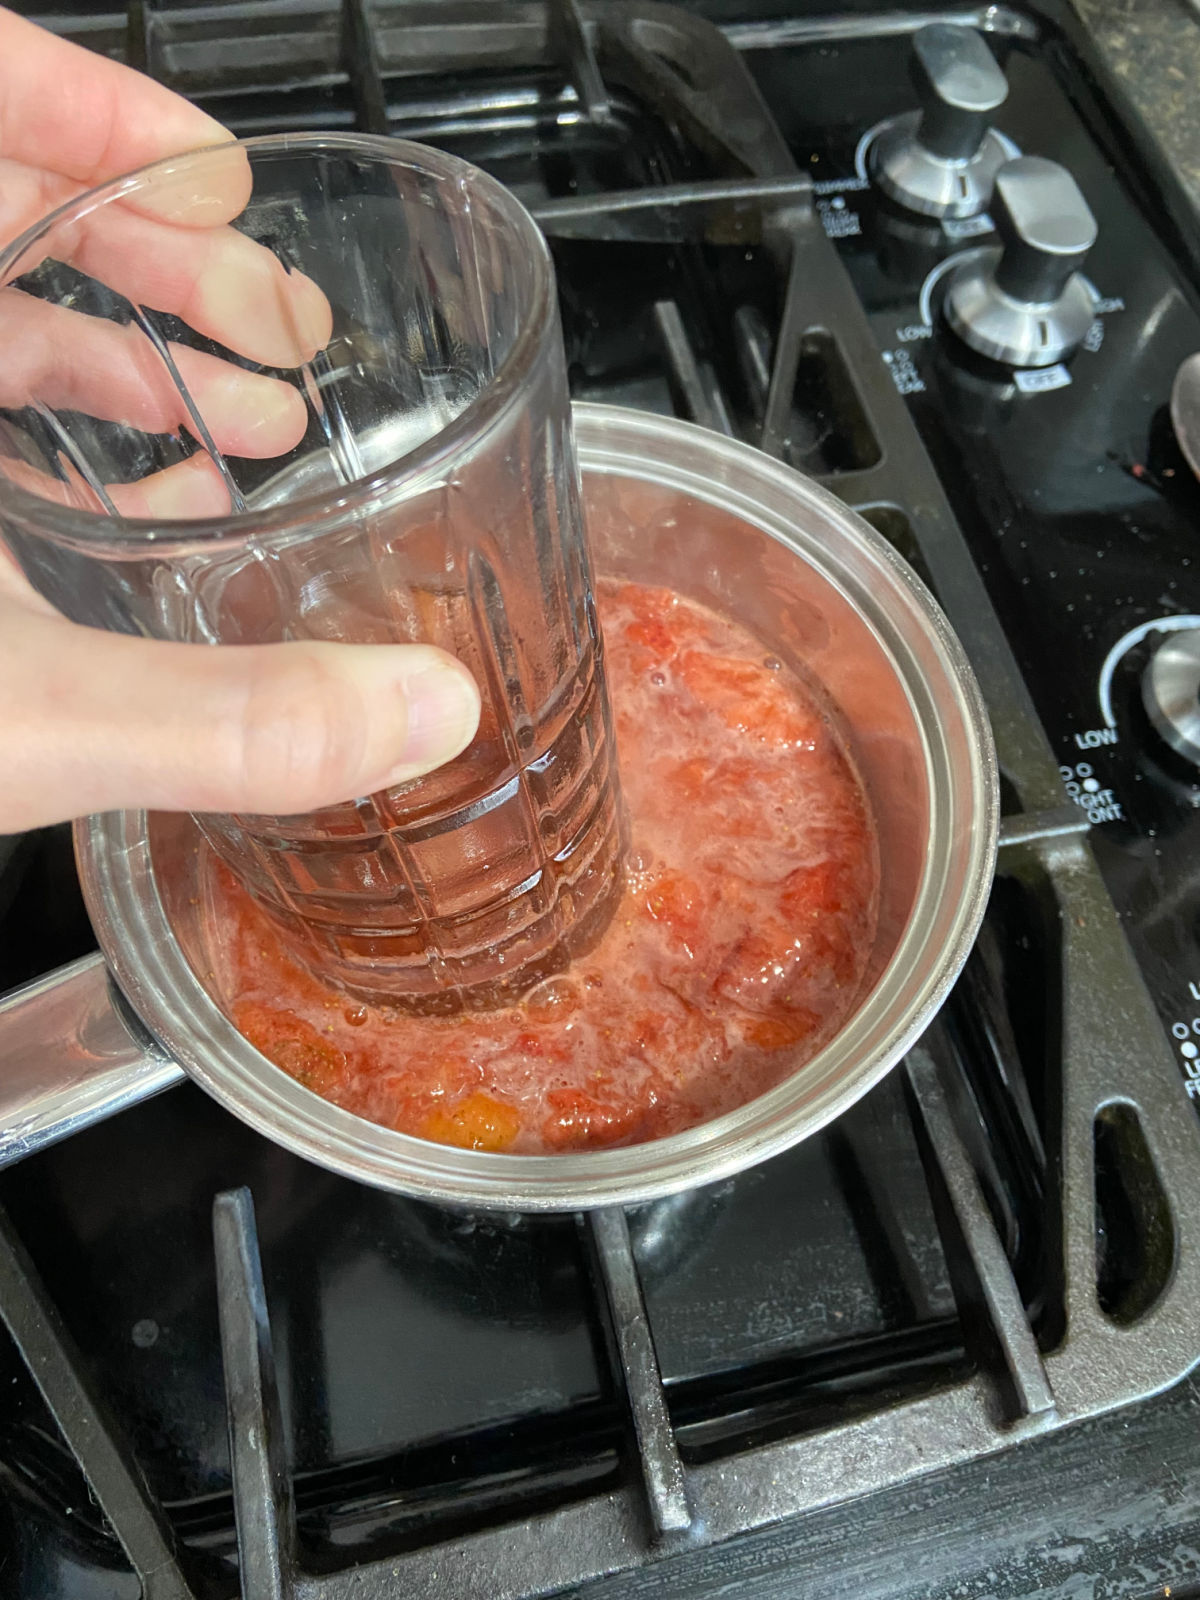
[[[1096,243],[1096,219],[1070,173],[1040,155],[1000,168],[992,214],[1003,250],[958,267],[946,294],[947,322],[995,362],[1053,366],[1096,315],[1078,272]]]

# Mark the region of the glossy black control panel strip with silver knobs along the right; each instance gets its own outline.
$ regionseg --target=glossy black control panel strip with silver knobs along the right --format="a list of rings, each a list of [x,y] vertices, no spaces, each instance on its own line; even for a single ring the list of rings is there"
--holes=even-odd
[[[1168,174],[1118,134],[1058,27],[1042,30],[1037,6],[1002,11],[973,37],[934,35],[992,78],[974,102],[947,88],[955,72],[928,37],[914,51],[914,35],[822,27],[787,72],[766,51],[749,59],[811,173],[878,376],[917,424],[1163,1022],[1187,1045],[1200,1110],[1200,270],[1157,226],[1173,213]],[[933,101],[944,109],[930,114]],[[1008,157],[966,216],[896,184],[902,133],[933,162],[930,128],[947,120],[971,139],[982,123]],[[840,448],[853,472],[850,426]],[[914,531],[899,525],[902,550]]]

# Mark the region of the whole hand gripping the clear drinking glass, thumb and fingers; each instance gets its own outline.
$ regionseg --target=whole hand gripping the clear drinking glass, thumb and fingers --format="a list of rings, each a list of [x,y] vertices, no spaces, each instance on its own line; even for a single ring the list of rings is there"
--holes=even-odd
[[[98,182],[227,139],[162,85],[0,10],[0,242]],[[102,208],[69,264],[254,362],[309,360],[330,338],[325,296],[227,226],[250,192],[242,152],[208,187],[200,218],[163,190],[154,205]],[[146,430],[187,422],[133,328],[3,288],[0,349],[0,410],[38,398]],[[293,386],[179,346],[173,355],[219,450],[266,458],[302,437]],[[203,453],[110,493],[130,517],[229,509]],[[0,544],[0,832],[122,806],[307,811],[440,766],[477,722],[470,675],[432,646],[104,634],[59,616]]]

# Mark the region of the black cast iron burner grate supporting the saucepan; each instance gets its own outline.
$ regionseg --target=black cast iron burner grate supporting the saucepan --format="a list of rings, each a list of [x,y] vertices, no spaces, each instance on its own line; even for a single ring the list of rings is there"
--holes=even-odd
[[[1043,26],[1003,8],[955,19],[995,37],[1037,38]],[[238,133],[363,128],[426,138],[510,182],[555,251],[574,392],[677,410],[752,438],[872,520],[934,587],[963,637],[1006,786],[987,925],[942,1016],[819,1150],[813,1141],[803,1160],[781,1158],[755,1174],[770,1227],[773,1186],[811,1178],[819,1160],[835,1168],[854,1198],[867,1277],[888,1307],[878,1325],[867,1318],[851,1338],[816,1341],[802,1357],[782,1346],[773,1355],[771,1328],[746,1360],[688,1326],[680,1285],[698,1259],[704,1270],[717,1261],[696,1240],[746,1208],[749,1190],[736,1181],[574,1224],[477,1224],[376,1197],[389,1210],[376,1214],[363,1202],[373,1245],[389,1243],[389,1227],[408,1229],[405,1259],[432,1262],[440,1282],[450,1275],[451,1293],[467,1296],[472,1262],[483,1259],[459,1237],[477,1226],[482,1250],[510,1253],[509,1283],[536,1277],[531,1262],[554,1262],[538,1293],[557,1304],[570,1278],[606,1362],[597,1390],[576,1394],[557,1421],[498,1414],[470,1437],[446,1432],[390,1466],[360,1454],[350,1466],[298,1470],[286,1440],[299,1448],[301,1424],[293,1416],[286,1426],[275,1376],[277,1285],[264,1286],[250,1190],[226,1181],[237,1178],[237,1141],[250,1136],[222,1125],[221,1158],[187,1170],[179,1186],[192,1210],[213,1203],[232,1501],[219,1472],[206,1494],[194,1485],[163,1490],[162,1461],[182,1422],[168,1408],[155,1424],[162,1437],[149,1437],[133,1414],[126,1370],[106,1392],[102,1376],[117,1363],[70,1283],[72,1274],[91,1280],[83,1256],[67,1250],[56,1261],[53,1224],[70,1214],[72,1178],[78,1187],[96,1178],[98,1162],[136,1160],[138,1139],[155,1130],[174,1152],[181,1128],[200,1141],[222,1114],[178,1088],[90,1128],[174,1082],[165,1064],[141,1085],[114,1074],[72,1085],[69,1118],[46,1107],[6,1130],[5,1158],[30,1160],[5,1179],[13,1221],[0,1232],[0,1315],[72,1454],[14,1374],[29,1395],[0,1430],[0,1482],[30,1517],[59,1528],[66,1514],[75,1517],[72,1558],[112,1578],[112,1587],[86,1592],[117,1594],[133,1568],[154,1600],[238,1587],[248,1600],[544,1595],[989,1454],[1189,1371],[1200,1358],[1200,1139],[1176,1067],[1093,859],[1086,816],[1066,802],[1059,765],[813,203],[811,179],[730,37],[667,6],[581,13],[574,0],[187,10],[134,0],[125,16],[50,21],[192,94]],[[859,16],[781,24],[778,34],[789,46],[821,48],[894,38],[922,21]],[[730,35],[755,50],[770,50],[773,37],[766,26]],[[584,272],[581,262],[592,266]],[[611,262],[613,275],[597,262]],[[622,322],[630,283],[638,294]],[[123,1144],[134,1115],[147,1120]],[[894,1128],[907,1130],[909,1144],[888,1142]],[[74,1138],[50,1150],[66,1133]],[[51,1171],[46,1163],[61,1152],[61,1171]],[[282,1168],[264,1160],[262,1182],[253,1184],[259,1224],[264,1208],[298,1213],[315,1240],[317,1272],[330,1245],[322,1205],[333,1190],[302,1168],[310,1194],[288,1192],[286,1182],[280,1194]],[[45,1205],[51,1238],[35,1250],[29,1242]],[[699,1206],[699,1221],[686,1206]],[[930,1206],[936,1232],[918,1237],[914,1218],[922,1222]],[[75,1229],[72,1248],[86,1250],[86,1232]],[[141,1245],[152,1262],[170,1254],[154,1229]],[[123,1259],[138,1248],[134,1232]],[[677,1251],[666,1266],[664,1250]],[[805,1296],[822,1285],[813,1258],[795,1259],[810,1270],[808,1280],[787,1278],[789,1315],[800,1320]],[[747,1259],[744,1274],[754,1270]],[[115,1277],[104,1285],[114,1299]],[[190,1304],[181,1291],[181,1317]],[[734,1318],[728,1307],[725,1315]],[[296,1326],[290,1317],[290,1368],[312,1357],[306,1339],[320,1336],[301,1338]],[[158,1331],[152,1318],[136,1320],[133,1346],[152,1352]],[[587,1336],[579,1333],[584,1344]],[[424,1382],[405,1350],[394,1363],[373,1382]],[[131,1442],[115,1421],[122,1400]],[[219,1406],[216,1394],[211,1405]],[[539,1458],[554,1470],[539,1477],[531,1466]],[[355,1522],[368,1525],[357,1542],[346,1536]],[[117,1573],[118,1547],[126,1578]]]

